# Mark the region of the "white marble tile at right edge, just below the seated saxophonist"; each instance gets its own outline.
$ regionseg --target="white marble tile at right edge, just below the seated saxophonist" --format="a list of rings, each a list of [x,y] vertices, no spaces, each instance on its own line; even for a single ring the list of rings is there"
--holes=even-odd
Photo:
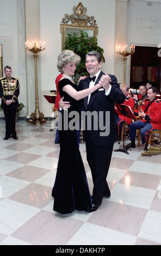
[[[135,161],[129,170],[140,173],[161,175],[160,164],[154,162]]]

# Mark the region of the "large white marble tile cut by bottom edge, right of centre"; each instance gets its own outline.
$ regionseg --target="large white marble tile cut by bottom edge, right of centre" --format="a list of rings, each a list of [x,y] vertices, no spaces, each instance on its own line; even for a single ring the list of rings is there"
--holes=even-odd
[[[137,237],[84,223],[67,245],[134,245]]]

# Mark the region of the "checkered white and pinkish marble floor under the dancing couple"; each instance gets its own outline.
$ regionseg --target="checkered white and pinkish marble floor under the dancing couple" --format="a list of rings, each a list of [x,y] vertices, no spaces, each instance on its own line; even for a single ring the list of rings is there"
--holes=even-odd
[[[160,155],[141,156],[142,145],[129,155],[114,151],[112,196],[96,212],[60,215],[51,197],[59,144],[50,125],[19,121],[18,141],[4,141],[0,121],[0,245],[161,245]],[[84,144],[80,152],[92,192]]]

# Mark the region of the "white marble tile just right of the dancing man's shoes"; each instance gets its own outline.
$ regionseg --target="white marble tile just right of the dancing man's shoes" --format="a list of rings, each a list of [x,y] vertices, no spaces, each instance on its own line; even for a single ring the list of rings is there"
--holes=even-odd
[[[109,198],[110,201],[149,209],[156,190],[116,184],[111,193],[112,196]]]

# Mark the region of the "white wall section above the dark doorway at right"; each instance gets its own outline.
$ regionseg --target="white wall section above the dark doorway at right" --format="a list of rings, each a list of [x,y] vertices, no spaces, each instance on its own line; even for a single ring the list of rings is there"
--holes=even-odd
[[[161,43],[161,1],[131,0],[128,3],[127,44],[157,47]],[[130,79],[129,60],[127,81]]]

